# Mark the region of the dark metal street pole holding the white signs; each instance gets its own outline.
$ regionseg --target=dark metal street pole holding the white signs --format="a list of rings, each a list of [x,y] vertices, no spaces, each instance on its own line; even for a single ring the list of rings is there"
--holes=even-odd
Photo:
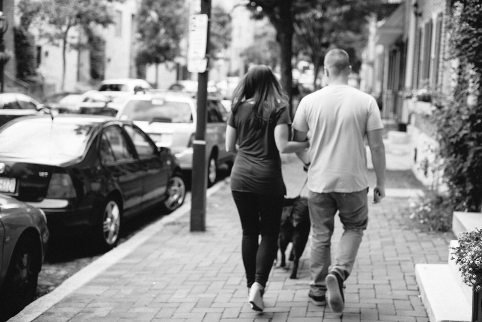
[[[207,15],[207,45],[206,54],[209,52],[209,27],[211,17],[211,0],[201,0],[201,14]],[[206,119],[207,119],[207,80],[208,69],[198,73],[197,87],[197,120],[196,135],[193,142],[192,157],[192,188],[191,188],[191,232],[204,232],[206,230]]]

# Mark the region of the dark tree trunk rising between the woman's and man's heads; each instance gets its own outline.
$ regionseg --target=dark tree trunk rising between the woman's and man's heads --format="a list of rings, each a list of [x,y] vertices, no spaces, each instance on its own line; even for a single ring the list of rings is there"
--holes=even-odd
[[[316,0],[253,0],[247,1],[245,5],[252,11],[254,18],[268,17],[276,29],[276,40],[281,48],[281,85],[290,97],[290,103],[294,19],[296,15],[309,11],[316,3]]]

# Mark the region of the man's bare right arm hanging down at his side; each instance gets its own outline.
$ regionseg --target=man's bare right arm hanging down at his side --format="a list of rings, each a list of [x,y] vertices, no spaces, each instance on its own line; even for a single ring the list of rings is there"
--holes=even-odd
[[[385,145],[383,144],[383,129],[373,130],[367,132],[368,145],[370,146],[370,152],[372,153],[373,169],[377,176],[377,189],[380,194],[375,193],[375,202],[379,202],[385,197]]]

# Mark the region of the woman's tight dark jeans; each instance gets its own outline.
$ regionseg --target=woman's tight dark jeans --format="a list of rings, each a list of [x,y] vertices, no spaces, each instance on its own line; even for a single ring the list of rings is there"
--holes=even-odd
[[[232,191],[232,197],[243,227],[242,255],[248,287],[254,282],[265,287],[278,253],[284,196]]]

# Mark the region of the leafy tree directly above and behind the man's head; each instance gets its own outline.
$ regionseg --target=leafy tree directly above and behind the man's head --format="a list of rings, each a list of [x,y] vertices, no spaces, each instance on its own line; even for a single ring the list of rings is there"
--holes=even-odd
[[[375,9],[375,1],[318,0],[315,8],[296,15],[296,40],[313,63],[315,88],[319,68],[330,47],[349,51],[352,66],[359,68],[355,64],[357,52],[366,44],[367,18]]]

